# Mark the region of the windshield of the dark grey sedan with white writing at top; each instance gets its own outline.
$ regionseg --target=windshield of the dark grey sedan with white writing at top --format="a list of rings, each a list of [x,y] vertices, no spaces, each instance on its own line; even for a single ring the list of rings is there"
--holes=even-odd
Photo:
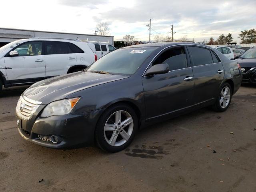
[[[157,47],[124,48],[106,54],[91,66],[87,72],[108,72],[114,74],[134,74],[142,62]]]

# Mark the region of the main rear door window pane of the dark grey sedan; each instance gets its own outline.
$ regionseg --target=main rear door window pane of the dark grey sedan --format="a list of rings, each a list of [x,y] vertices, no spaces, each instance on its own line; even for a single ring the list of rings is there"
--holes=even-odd
[[[193,66],[200,66],[213,63],[212,54],[210,50],[194,46],[189,46],[189,50],[191,53]]]

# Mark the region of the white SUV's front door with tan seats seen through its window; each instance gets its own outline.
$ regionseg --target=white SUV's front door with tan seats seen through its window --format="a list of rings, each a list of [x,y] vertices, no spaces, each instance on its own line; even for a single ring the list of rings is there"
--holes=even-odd
[[[24,82],[35,82],[45,78],[45,57],[42,41],[30,41],[18,45],[11,51],[17,56],[5,56],[5,67],[8,80],[26,79]]]

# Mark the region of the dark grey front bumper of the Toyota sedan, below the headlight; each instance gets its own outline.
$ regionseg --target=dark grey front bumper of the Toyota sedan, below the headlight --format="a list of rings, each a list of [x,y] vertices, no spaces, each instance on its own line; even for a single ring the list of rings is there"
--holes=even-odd
[[[38,110],[41,109],[42,107]],[[46,118],[35,113],[29,120],[24,120],[16,114],[17,122],[19,121],[18,132],[25,140],[50,148],[66,148],[78,144],[91,145],[94,143],[96,123],[103,111],[104,109],[100,109],[82,114]],[[58,142],[52,142],[51,136],[56,136]]]

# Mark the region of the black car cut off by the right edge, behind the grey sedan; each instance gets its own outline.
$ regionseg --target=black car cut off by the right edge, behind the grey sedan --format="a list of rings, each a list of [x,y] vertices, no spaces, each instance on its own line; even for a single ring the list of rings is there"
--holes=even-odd
[[[236,60],[242,70],[243,83],[256,83],[256,47],[250,48]]]

